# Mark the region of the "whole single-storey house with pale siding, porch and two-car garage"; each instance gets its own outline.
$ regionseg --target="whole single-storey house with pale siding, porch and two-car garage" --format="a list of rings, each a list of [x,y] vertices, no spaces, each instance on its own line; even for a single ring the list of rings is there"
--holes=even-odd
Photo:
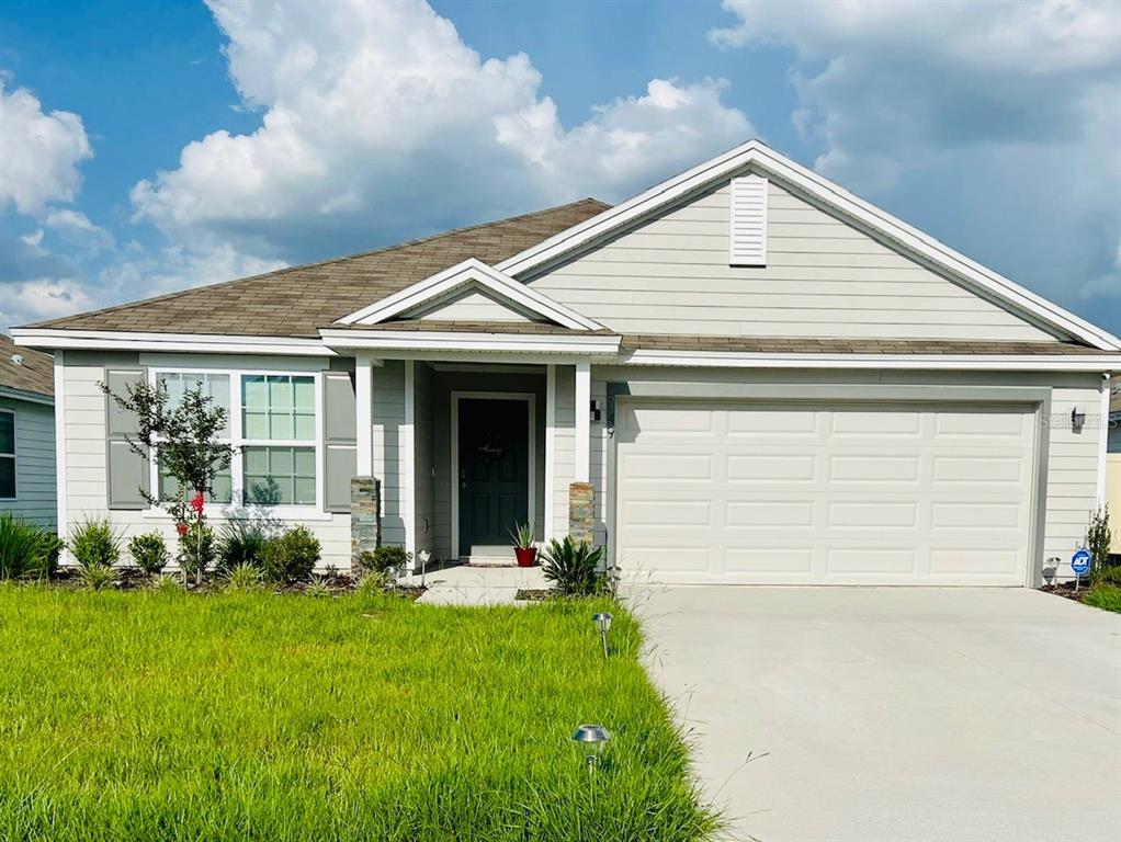
[[[326,564],[349,564],[370,474],[382,539],[411,553],[508,558],[528,520],[694,583],[1068,573],[1104,497],[1104,426],[1083,419],[1121,370],[1117,337],[757,141],[615,207],[16,335],[56,352],[65,522],[170,535],[98,383],[201,381],[242,448],[215,515],[266,505]]]

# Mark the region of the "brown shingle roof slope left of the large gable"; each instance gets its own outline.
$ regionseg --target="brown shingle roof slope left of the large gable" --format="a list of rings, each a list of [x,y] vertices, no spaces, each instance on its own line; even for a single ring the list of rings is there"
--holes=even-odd
[[[495,263],[605,211],[594,198],[377,251],[39,322],[33,327],[318,336],[319,327],[474,257]]]

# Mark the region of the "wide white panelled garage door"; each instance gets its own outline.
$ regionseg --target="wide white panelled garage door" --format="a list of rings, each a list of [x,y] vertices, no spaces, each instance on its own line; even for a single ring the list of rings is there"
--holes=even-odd
[[[618,563],[658,582],[1023,585],[1032,418],[620,403]]]

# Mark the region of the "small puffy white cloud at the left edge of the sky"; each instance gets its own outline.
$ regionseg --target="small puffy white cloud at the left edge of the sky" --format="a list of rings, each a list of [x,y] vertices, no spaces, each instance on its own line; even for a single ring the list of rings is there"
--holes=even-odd
[[[0,212],[41,214],[48,203],[73,202],[82,186],[78,164],[93,157],[82,118],[44,113],[24,87],[4,90],[0,75]]]

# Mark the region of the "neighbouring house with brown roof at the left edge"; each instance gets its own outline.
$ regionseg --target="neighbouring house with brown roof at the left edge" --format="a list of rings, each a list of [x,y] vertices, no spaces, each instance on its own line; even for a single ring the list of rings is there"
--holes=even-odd
[[[55,527],[54,361],[0,334],[0,511]]]

